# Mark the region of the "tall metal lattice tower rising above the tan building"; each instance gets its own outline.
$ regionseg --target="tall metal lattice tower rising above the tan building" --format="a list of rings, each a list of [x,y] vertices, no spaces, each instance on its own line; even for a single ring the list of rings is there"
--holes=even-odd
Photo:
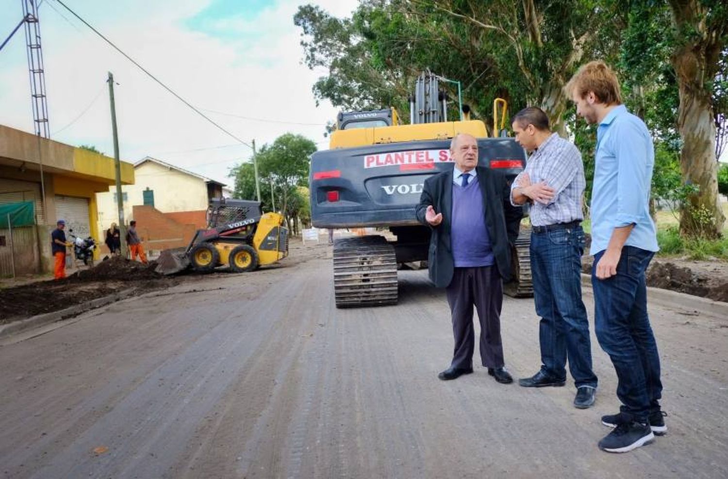
[[[31,79],[33,122],[36,126],[36,135],[50,138],[38,7],[36,0],[21,1],[23,2],[23,22],[25,23],[25,44],[28,45],[28,71]]]

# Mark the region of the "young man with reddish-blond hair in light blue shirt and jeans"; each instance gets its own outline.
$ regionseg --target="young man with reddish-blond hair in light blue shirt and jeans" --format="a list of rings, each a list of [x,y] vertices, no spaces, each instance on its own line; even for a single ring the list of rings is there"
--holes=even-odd
[[[627,452],[666,431],[645,284],[645,270],[658,249],[649,215],[654,147],[644,121],[622,105],[617,76],[604,62],[579,68],[566,94],[577,104],[577,115],[597,125],[590,249],[595,331],[614,364],[622,401],[618,414],[602,416],[602,424],[614,430],[599,447]]]

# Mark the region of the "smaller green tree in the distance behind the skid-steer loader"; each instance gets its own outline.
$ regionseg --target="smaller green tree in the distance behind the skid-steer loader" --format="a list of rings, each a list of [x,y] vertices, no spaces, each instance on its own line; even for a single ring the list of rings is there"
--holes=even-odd
[[[315,151],[316,144],[312,140],[300,134],[286,133],[277,137],[271,145],[263,145],[256,156],[261,183],[261,207],[272,210],[275,206],[285,217],[288,229],[294,233],[298,231],[296,219],[299,216],[310,217],[309,213],[301,213],[308,203],[301,199],[298,188],[308,184],[309,157]],[[234,166],[229,176],[235,177],[236,198],[255,198],[252,162]],[[272,197],[275,204],[269,203]]]

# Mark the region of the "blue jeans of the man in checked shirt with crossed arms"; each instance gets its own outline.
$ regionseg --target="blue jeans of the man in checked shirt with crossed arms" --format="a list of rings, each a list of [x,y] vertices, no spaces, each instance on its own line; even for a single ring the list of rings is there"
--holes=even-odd
[[[531,273],[541,317],[541,369],[566,379],[566,358],[577,387],[596,387],[589,319],[582,302],[584,230],[581,226],[531,233]]]

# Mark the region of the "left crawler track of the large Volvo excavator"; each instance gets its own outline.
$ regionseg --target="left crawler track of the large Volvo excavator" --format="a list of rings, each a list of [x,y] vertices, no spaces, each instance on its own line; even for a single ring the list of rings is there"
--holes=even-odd
[[[333,244],[336,307],[397,304],[395,249],[383,236],[340,238]]]

